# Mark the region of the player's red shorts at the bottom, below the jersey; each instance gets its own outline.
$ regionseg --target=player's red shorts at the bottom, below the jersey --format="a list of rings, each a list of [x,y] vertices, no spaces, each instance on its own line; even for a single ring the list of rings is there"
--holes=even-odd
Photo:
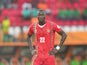
[[[55,57],[54,55],[44,57],[34,56],[31,65],[55,65]]]

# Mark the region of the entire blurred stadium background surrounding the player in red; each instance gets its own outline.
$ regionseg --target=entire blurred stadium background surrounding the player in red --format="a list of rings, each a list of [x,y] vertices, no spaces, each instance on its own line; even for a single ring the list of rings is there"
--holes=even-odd
[[[0,65],[30,65],[26,38],[39,9],[68,35],[56,65],[87,65],[87,0],[0,0]]]

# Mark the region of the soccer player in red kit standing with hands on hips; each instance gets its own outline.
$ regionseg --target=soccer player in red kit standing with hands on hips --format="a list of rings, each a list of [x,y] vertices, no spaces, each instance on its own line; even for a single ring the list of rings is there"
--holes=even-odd
[[[28,43],[32,54],[33,65],[55,65],[54,54],[62,47],[67,35],[59,25],[45,20],[46,13],[39,10],[38,23],[32,24],[28,30]],[[59,45],[54,47],[55,32],[61,35]],[[33,48],[31,37],[36,36],[35,48]],[[35,51],[36,50],[36,51]]]

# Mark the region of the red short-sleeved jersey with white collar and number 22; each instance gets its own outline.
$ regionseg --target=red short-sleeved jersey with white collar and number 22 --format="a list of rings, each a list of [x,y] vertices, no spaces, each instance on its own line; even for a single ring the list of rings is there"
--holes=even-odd
[[[59,25],[46,21],[46,24],[40,26],[32,24],[29,28],[28,34],[35,33],[36,45],[38,47],[38,55],[48,55],[50,50],[54,48],[55,32],[60,32],[61,28]]]

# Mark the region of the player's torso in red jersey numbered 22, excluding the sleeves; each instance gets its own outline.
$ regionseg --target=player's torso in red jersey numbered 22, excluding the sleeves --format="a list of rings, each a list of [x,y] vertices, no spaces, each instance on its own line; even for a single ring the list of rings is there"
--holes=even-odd
[[[40,27],[39,24],[36,25],[36,38],[37,45],[40,52],[47,52],[50,50],[51,46],[53,46],[52,39],[54,32],[51,35],[51,25],[47,22],[43,27]],[[52,41],[51,41],[52,40]]]

